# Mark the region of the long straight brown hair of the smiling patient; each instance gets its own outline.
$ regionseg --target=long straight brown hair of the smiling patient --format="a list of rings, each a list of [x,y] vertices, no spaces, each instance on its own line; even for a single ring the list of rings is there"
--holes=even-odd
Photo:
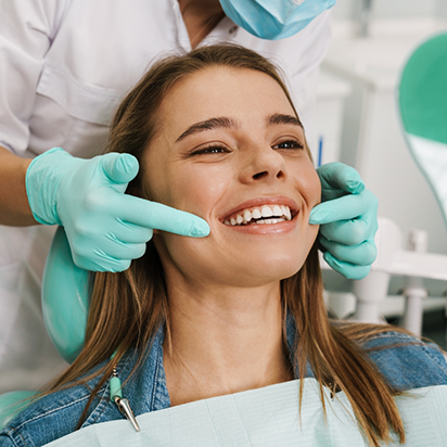
[[[293,107],[278,69],[266,59],[232,44],[202,47],[184,55],[164,59],[151,67],[116,112],[107,152],[126,152],[142,159],[143,152],[156,135],[158,110],[165,94],[179,80],[210,66],[265,73],[281,86]],[[144,169],[140,165],[140,173],[129,184],[127,193],[148,197]],[[403,443],[404,426],[393,399],[399,393],[385,382],[357,343],[376,333],[389,331],[389,327],[339,324],[328,319],[316,244],[303,268],[293,277],[281,281],[281,295],[284,309],[292,314],[296,322],[294,357],[298,363],[299,378],[305,378],[306,365],[309,362],[320,384],[323,406],[327,404],[323,397],[324,386],[333,393],[343,391],[353,406],[360,430],[372,446],[379,446],[379,440],[391,440],[391,431]],[[150,241],[145,255],[133,260],[128,270],[95,274],[85,348],[52,384],[51,389],[69,387],[100,376],[89,406],[111,376],[114,361],[106,362],[102,369],[88,376],[85,374],[110,359],[115,350],[117,359],[131,347],[139,350],[140,357],[133,372],[138,370],[145,347],[159,325],[165,323],[169,328],[168,318],[164,272],[157,252]],[[78,378],[81,375],[84,379],[80,381]],[[303,384],[304,381],[301,382],[301,397]]]

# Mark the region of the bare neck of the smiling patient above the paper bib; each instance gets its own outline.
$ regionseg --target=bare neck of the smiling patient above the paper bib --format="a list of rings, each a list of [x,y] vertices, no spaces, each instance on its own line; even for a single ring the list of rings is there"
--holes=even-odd
[[[293,379],[279,283],[204,293],[169,290],[164,363],[173,406]]]

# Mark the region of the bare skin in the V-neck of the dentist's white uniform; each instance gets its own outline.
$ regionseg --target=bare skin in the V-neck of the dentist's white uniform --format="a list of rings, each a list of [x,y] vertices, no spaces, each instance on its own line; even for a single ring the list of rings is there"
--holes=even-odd
[[[218,0],[178,0],[191,48],[195,48],[225,16]]]

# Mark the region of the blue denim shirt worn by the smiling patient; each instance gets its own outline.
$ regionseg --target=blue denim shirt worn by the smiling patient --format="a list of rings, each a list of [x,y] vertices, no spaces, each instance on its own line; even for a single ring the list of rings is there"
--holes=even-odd
[[[294,336],[295,324],[289,318],[286,337],[290,349]],[[164,331],[161,328],[154,336],[144,362],[123,387],[123,396],[129,399],[136,416],[170,406],[163,367],[163,340]],[[387,347],[392,345],[395,346]],[[407,391],[447,384],[446,360],[438,347],[433,344],[424,344],[403,333],[385,332],[369,339],[362,348],[395,388]],[[137,353],[129,352],[119,362],[117,372],[122,382],[129,376],[136,359]],[[309,367],[307,375],[312,375]],[[98,380],[97,378],[89,382],[90,388]],[[0,432],[0,447],[43,446],[74,432],[89,397],[89,389],[79,385],[38,399]],[[82,427],[123,418],[116,404],[110,400],[107,381],[90,406]]]

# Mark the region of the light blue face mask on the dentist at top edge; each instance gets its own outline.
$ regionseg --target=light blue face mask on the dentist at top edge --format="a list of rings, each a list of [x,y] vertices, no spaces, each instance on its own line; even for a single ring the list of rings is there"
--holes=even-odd
[[[219,0],[225,13],[239,26],[261,39],[293,36],[336,0]]]

